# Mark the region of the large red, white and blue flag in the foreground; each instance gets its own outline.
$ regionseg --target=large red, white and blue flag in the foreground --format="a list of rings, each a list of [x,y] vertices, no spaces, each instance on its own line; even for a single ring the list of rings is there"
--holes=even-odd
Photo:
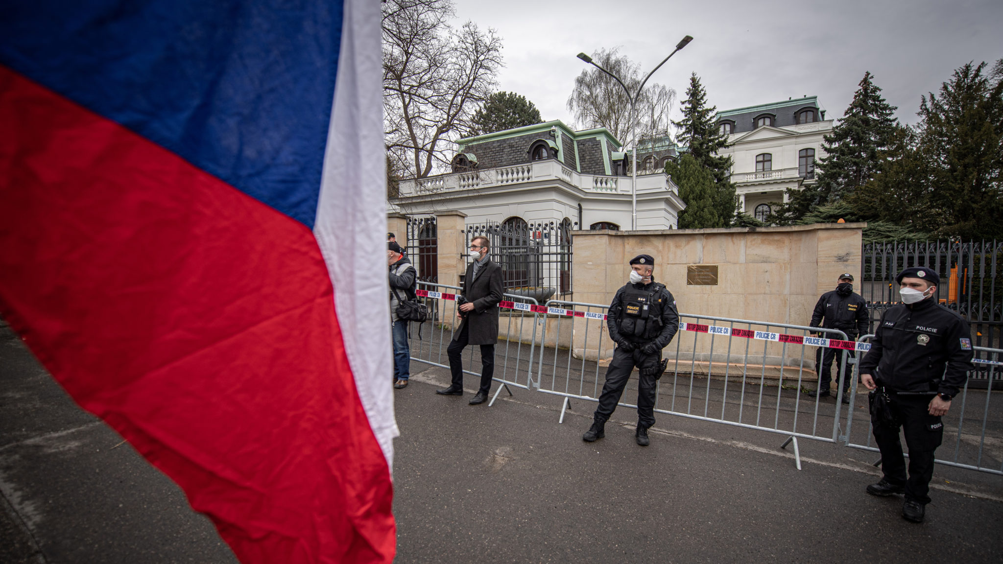
[[[11,0],[0,313],[245,563],[389,562],[380,8]]]

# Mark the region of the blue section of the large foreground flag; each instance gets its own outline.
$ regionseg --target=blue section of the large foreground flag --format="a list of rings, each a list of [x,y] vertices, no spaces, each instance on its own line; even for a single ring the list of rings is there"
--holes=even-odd
[[[339,0],[13,0],[0,62],[313,227]]]

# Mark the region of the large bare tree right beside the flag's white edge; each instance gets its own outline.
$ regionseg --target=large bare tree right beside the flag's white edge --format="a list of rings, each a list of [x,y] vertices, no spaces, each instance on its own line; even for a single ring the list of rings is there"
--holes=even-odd
[[[501,39],[472,22],[449,25],[451,0],[383,3],[383,105],[390,159],[423,178],[449,163],[450,140],[468,134],[496,86]]]

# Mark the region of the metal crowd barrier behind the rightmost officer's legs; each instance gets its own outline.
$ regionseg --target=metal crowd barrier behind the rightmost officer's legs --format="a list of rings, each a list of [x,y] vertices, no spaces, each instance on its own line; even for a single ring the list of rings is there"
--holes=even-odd
[[[860,339],[861,350],[870,350],[870,340],[874,335],[864,335]],[[1003,349],[973,346],[975,351],[975,370],[968,372],[965,386],[958,396],[951,401],[951,409],[941,419],[944,422],[944,441],[938,448],[939,453],[953,447],[950,460],[936,459],[937,464],[953,466],[988,474],[1003,475],[1003,395],[999,392],[1000,382],[1003,382]],[[855,367],[853,389],[855,391],[860,377],[859,365]],[[981,389],[983,380],[986,388]],[[973,385],[976,384],[976,385]],[[993,394],[993,387],[997,393]],[[932,398],[932,397],[931,397]],[[994,399],[995,398],[995,399]],[[860,411],[860,413],[858,413]],[[861,437],[860,430],[865,426],[858,418],[854,435],[855,417],[866,417],[867,437]],[[975,424],[972,419],[975,419]],[[868,404],[863,409],[856,409],[853,399],[850,413],[847,417],[846,446],[862,451],[879,452],[872,447],[874,428],[871,424],[871,413]],[[953,440],[952,440],[953,436]],[[952,445],[953,443],[953,445]],[[908,454],[906,455],[909,456]],[[874,466],[881,465],[881,459]]]

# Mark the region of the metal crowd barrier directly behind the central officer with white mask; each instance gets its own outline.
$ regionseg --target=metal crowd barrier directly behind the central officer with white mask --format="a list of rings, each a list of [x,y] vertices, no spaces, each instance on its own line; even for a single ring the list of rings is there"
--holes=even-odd
[[[612,356],[615,345],[608,340],[606,331],[608,306],[551,300],[547,309],[557,319],[544,327],[545,346],[538,353],[538,389],[565,397],[560,418],[563,422],[570,399],[599,400],[606,370],[598,360]],[[837,443],[843,387],[834,384],[833,401],[802,395],[801,385],[817,382],[814,370],[808,369],[805,374],[806,360],[816,368],[815,347],[840,349],[844,356],[847,350],[857,349],[857,343],[848,340],[846,333],[748,319],[685,313],[679,317],[687,321],[680,322],[674,342],[663,351],[669,365],[658,382],[656,412],[784,435],[787,440],[781,448],[793,443],[798,470],[798,438]],[[550,341],[561,340],[563,323],[571,325],[565,329],[571,341],[565,343],[567,350],[555,348],[552,352]],[[554,331],[558,338],[549,340],[549,332]],[[809,333],[826,333],[835,338]],[[590,334],[594,337],[590,338]],[[597,361],[589,362],[586,356],[591,356],[592,351],[597,353]],[[811,353],[806,356],[808,351]],[[853,362],[854,358],[846,358],[843,370]],[[619,404],[636,408],[624,401]]]

